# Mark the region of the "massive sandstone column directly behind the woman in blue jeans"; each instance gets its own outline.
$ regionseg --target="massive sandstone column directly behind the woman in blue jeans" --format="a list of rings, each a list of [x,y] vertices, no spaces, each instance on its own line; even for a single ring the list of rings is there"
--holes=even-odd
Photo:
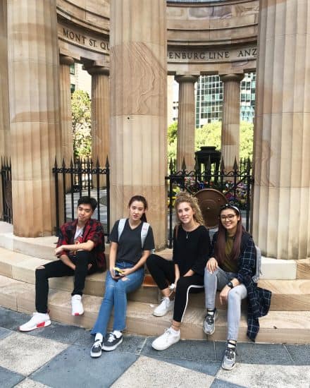
[[[166,244],[166,1],[111,1],[111,222],[132,195]]]

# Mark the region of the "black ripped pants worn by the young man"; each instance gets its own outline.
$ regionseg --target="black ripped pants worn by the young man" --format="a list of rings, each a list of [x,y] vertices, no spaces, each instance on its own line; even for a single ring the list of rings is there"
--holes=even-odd
[[[35,270],[35,308],[38,313],[47,313],[47,296],[49,294],[49,278],[74,275],[74,289],[71,295],[82,295],[87,274],[97,272],[96,257],[88,250],[79,250],[75,256],[70,256],[75,270],[68,267],[61,260],[49,262]],[[88,265],[92,267],[88,270]]]

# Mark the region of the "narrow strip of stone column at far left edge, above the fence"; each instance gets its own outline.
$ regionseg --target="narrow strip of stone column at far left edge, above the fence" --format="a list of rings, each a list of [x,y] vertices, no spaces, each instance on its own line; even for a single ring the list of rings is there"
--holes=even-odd
[[[10,113],[8,108],[8,42],[7,6],[0,1],[0,163],[11,157]],[[4,188],[8,190],[8,188]],[[3,198],[0,176],[0,219],[3,219]]]

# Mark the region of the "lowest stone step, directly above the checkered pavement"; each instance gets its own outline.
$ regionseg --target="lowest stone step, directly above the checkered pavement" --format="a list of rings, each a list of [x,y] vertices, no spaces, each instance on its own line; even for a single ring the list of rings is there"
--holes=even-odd
[[[33,284],[0,276],[0,305],[2,307],[23,313],[32,313],[35,310],[34,298],[35,286]],[[70,293],[51,289],[49,294],[49,308],[52,319],[87,329],[94,325],[100,303],[101,298],[97,296],[83,296],[85,314],[82,317],[73,317],[70,310]],[[126,332],[144,336],[162,334],[164,329],[171,323],[172,313],[168,313],[165,317],[154,317],[152,315],[153,309],[154,305],[149,303],[128,301]],[[192,306],[187,308],[182,322],[182,339],[206,339],[202,329],[203,322],[203,308],[193,308]],[[309,311],[271,311],[266,317],[260,319],[260,326],[257,342],[310,343]],[[219,312],[216,321],[216,332],[210,339],[225,341],[226,330],[226,312],[222,310]],[[238,341],[247,341],[246,332],[247,322],[244,315],[242,315]]]

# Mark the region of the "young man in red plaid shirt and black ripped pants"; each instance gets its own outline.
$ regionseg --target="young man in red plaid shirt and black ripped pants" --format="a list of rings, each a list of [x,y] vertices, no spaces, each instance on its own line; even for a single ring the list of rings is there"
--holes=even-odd
[[[55,255],[58,260],[49,262],[35,272],[36,312],[20,332],[30,332],[39,327],[51,325],[47,298],[50,277],[74,276],[74,289],[71,293],[72,315],[82,315],[82,291],[87,274],[106,269],[104,256],[104,229],[100,222],[92,219],[97,200],[81,197],[77,202],[77,219],[61,226]]]

